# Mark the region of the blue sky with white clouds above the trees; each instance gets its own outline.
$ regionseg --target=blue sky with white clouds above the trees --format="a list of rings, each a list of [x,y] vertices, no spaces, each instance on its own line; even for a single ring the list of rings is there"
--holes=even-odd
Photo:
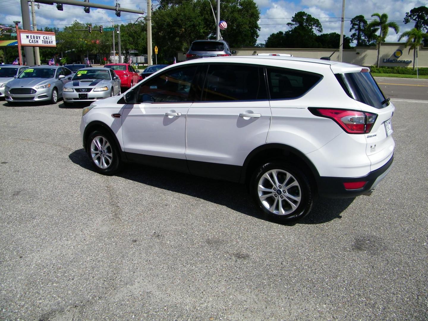
[[[146,1],[135,1],[137,2],[122,0],[119,1],[119,3],[125,8],[139,9],[144,12],[147,11]],[[19,0],[1,0],[1,2],[0,24],[9,25],[13,24],[13,21],[15,20],[22,21],[21,2]],[[91,2],[110,6],[115,5],[115,1],[113,0],[91,0]],[[255,2],[260,10],[259,26],[261,28],[257,43],[264,43],[272,33],[287,31],[289,28],[286,24],[291,22],[291,18],[299,11],[304,11],[312,15],[312,17],[317,18],[321,22],[323,33],[340,33],[340,17],[342,16],[341,0],[255,0]],[[152,0],[152,4],[155,5],[156,3],[157,2],[155,0]],[[211,0],[211,3],[215,11],[216,2]],[[428,0],[395,0],[385,2],[379,0],[345,0],[345,36],[351,35],[351,32],[349,31],[351,27],[350,20],[356,15],[363,15],[367,21],[370,21],[373,13],[386,13],[389,16],[389,21],[396,22],[400,27],[398,34],[395,34],[392,29],[389,29],[386,42],[397,42],[398,37],[402,32],[410,30],[413,27],[413,24],[404,24],[403,22],[406,12],[409,12],[411,9],[419,6],[428,6]],[[47,4],[40,4],[40,8],[36,6],[36,24],[38,29],[45,26],[62,29],[66,25],[72,24],[74,20],[78,20],[82,23],[91,22],[92,24],[102,24],[104,27],[108,27],[110,22],[108,22],[103,13],[110,19],[114,20],[116,24],[134,22],[139,16],[146,15],[122,12],[121,17],[119,18],[116,17],[114,12],[109,10],[91,8],[91,12],[87,14],[83,12],[83,7],[64,5],[64,10],[59,11],[56,10],[55,5],[50,6]],[[229,26],[233,24],[233,21],[226,22]]]

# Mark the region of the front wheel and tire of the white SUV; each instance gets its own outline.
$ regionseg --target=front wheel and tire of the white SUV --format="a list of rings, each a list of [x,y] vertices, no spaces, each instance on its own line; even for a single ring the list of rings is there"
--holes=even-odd
[[[95,171],[112,175],[121,166],[119,149],[113,137],[103,130],[93,131],[86,140],[86,152]]]

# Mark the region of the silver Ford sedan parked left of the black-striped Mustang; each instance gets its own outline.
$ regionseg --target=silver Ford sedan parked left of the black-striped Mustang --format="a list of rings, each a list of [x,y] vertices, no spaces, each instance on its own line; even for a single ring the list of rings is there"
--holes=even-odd
[[[62,66],[35,66],[25,69],[17,78],[6,83],[5,99],[9,103],[51,101],[62,97],[62,88],[73,73]]]

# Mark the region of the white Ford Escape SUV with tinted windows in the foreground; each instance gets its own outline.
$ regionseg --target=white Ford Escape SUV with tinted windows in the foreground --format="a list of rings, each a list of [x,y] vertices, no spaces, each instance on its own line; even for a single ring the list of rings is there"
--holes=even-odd
[[[315,195],[369,193],[389,172],[391,117],[368,68],[318,59],[232,56],[170,65],[83,109],[95,169],[125,162],[248,184],[277,220]]]

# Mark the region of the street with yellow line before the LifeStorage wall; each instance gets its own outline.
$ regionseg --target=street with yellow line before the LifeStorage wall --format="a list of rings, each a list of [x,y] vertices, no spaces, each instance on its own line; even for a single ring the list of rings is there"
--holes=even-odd
[[[375,77],[386,97],[428,101],[428,79]]]

